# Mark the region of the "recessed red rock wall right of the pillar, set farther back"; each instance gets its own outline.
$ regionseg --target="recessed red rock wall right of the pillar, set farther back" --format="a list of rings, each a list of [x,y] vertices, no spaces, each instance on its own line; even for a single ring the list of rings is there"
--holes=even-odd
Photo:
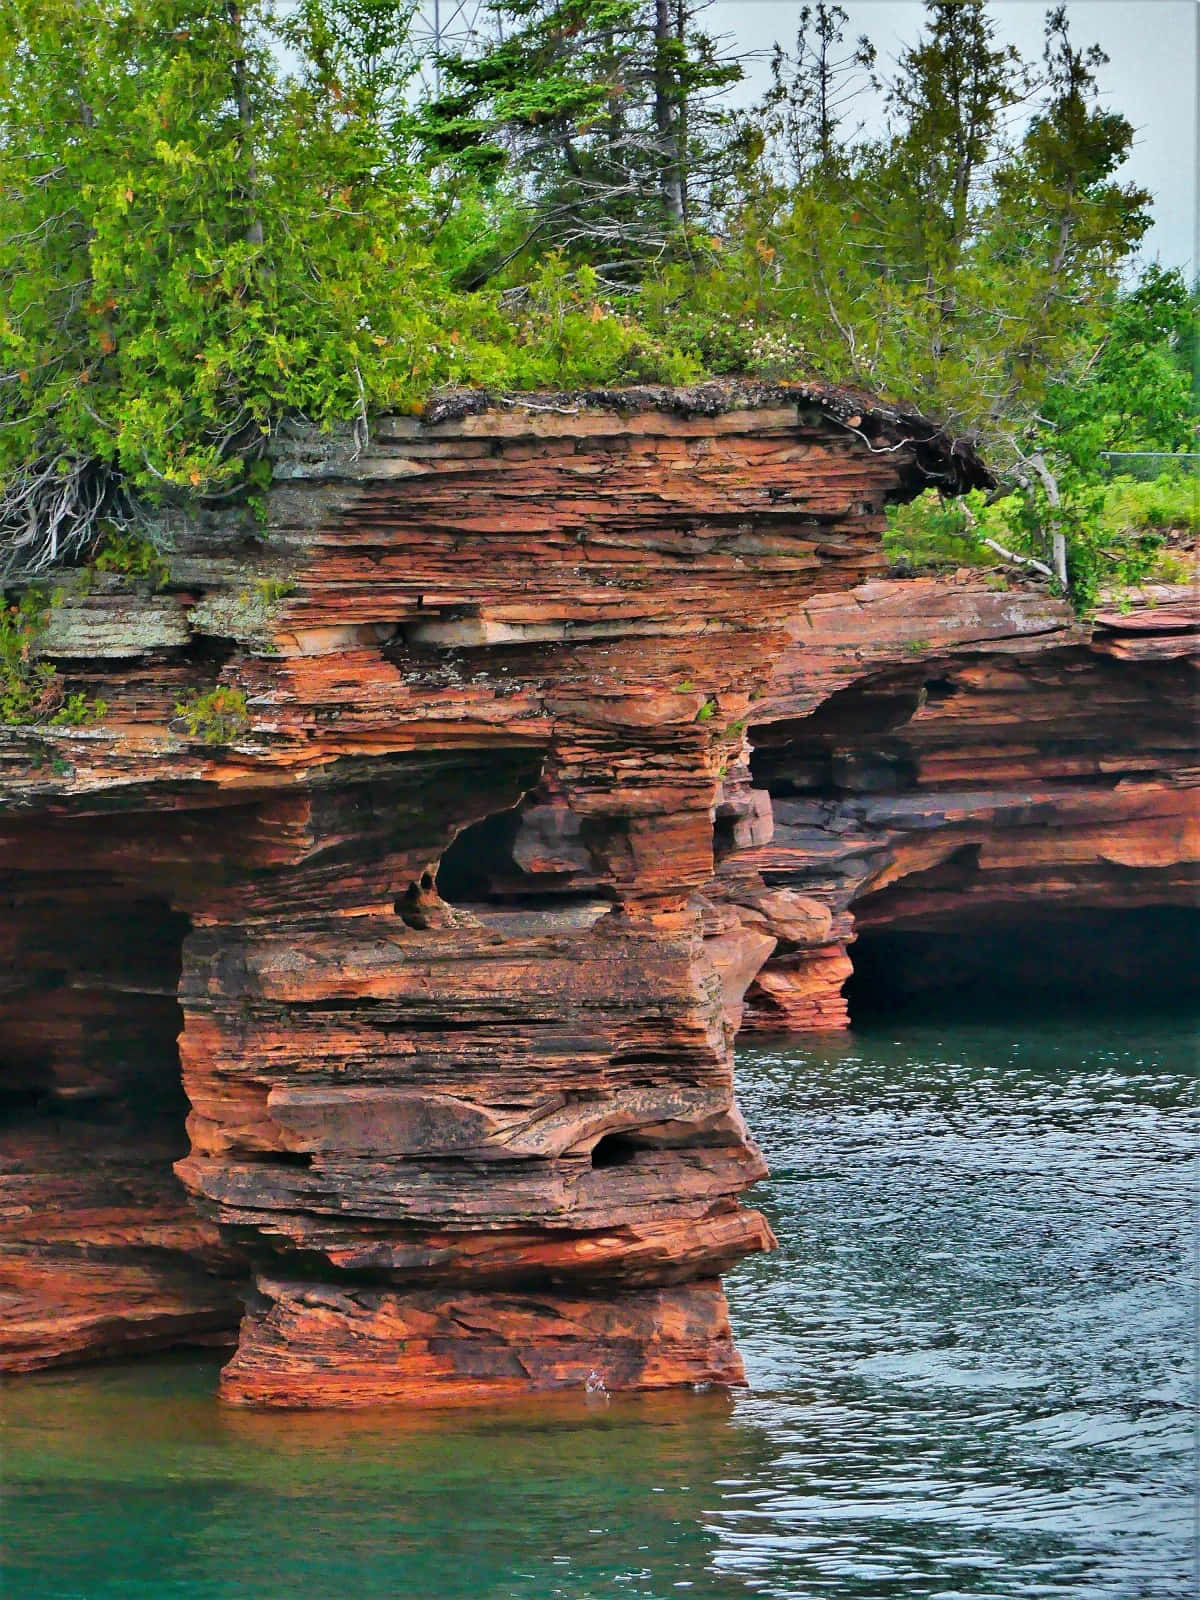
[[[1149,592],[1102,611],[1091,637],[1067,627],[1016,653],[979,627],[987,608],[970,584],[939,586],[939,611],[957,594],[973,613],[949,638],[920,619],[917,586],[893,586],[910,595],[904,634],[928,629],[912,661],[896,650],[894,610],[872,603],[883,587],[848,597],[870,605],[874,624],[867,645],[856,605],[854,680],[808,715],[750,734],[776,829],[738,858],[736,874],[816,898],[832,938],[781,934],[747,1026],[843,1026],[851,955],[867,965],[851,941],[866,934],[869,965],[891,968],[875,978],[893,998],[1005,976],[1026,990],[1086,981],[1109,998],[1147,986],[1186,992],[1200,862],[1197,611],[1178,590]],[[1014,605],[1006,595],[1002,610]],[[845,608],[818,632],[821,648],[832,635],[834,651],[851,653]],[[1155,949],[1142,960],[1139,930],[1152,925]],[[1026,946],[1014,971],[1003,971],[1013,952],[966,949],[1006,928]],[[1155,970],[1168,950],[1179,971]]]

